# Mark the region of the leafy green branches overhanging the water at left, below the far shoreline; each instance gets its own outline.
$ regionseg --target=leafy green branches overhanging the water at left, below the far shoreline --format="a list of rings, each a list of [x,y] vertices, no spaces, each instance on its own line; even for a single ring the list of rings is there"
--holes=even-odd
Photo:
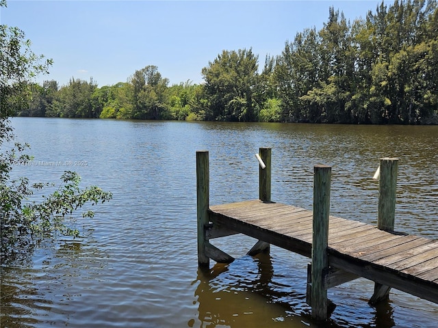
[[[0,120],[0,146],[13,141],[12,128],[8,120]],[[34,192],[53,187],[48,183],[30,184],[26,177],[11,178],[12,169],[17,165],[29,165],[31,156],[25,153],[27,144],[14,143],[9,150],[0,152],[0,259],[9,262],[26,257],[30,250],[44,236],[61,232],[68,236],[79,236],[74,222],[66,224],[65,219],[73,219],[73,213],[86,203],[92,205],[105,202],[112,194],[99,187],[79,188],[80,176],[66,171],[61,177],[62,184],[39,202],[30,202]],[[92,217],[88,210],[82,217]]]

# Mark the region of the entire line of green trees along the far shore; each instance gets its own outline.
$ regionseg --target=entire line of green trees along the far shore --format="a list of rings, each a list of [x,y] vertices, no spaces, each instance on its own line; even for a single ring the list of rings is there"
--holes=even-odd
[[[222,51],[203,83],[169,86],[157,66],[127,82],[91,79],[31,85],[18,115],[66,118],[438,124],[437,1],[382,1],[352,23],[329,9],[315,27],[286,41],[281,55]]]

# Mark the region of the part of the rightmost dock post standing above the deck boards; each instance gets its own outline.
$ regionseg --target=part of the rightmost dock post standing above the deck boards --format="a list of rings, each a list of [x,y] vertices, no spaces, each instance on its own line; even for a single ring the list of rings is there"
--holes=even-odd
[[[381,159],[381,175],[378,179],[378,219],[377,228],[394,231],[396,218],[396,187],[398,159]]]

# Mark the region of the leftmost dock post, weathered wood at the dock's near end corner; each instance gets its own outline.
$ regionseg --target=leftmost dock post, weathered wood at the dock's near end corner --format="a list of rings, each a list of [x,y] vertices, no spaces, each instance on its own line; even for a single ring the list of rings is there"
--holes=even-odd
[[[205,227],[209,223],[208,208],[210,197],[209,153],[207,150],[196,152],[196,209],[198,219],[198,266],[209,267],[206,254],[207,238]]]

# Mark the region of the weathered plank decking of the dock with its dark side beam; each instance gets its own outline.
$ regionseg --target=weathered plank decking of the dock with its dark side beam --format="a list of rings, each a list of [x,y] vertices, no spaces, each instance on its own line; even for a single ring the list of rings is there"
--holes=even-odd
[[[260,200],[211,206],[211,222],[311,258],[311,210]],[[208,234],[208,232],[207,232]],[[438,242],[329,219],[329,266],[438,303]]]

